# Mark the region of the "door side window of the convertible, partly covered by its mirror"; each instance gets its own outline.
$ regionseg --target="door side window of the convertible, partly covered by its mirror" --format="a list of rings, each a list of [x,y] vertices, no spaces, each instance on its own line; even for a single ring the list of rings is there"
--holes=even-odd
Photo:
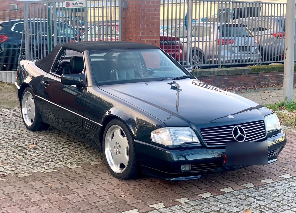
[[[64,49],[60,51],[51,72],[62,74],[79,74],[84,70],[84,60],[81,52]]]

